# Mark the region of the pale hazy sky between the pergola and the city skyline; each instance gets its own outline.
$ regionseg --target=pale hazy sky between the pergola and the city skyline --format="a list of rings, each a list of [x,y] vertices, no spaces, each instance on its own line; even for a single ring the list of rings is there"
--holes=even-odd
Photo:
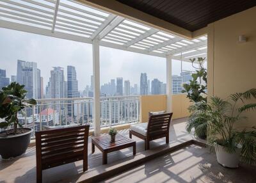
[[[0,28],[0,40],[0,68],[6,69],[8,77],[17,74],[17,60],[24,60],[37,63],[44,86],[49,81],[52,67],[63,67],[67,79],[67,65],[76,67],[79,90],[90,85],[91,44],[3,28]],[[173,61],[172,70],[173,74],[180,73],[180,61]],[[116,77],[124,77],[132,85],[140,84],[141,72],[146,72],[150,80],[157,78],[166,82],[165,58],[100,47],[100,84]]]

